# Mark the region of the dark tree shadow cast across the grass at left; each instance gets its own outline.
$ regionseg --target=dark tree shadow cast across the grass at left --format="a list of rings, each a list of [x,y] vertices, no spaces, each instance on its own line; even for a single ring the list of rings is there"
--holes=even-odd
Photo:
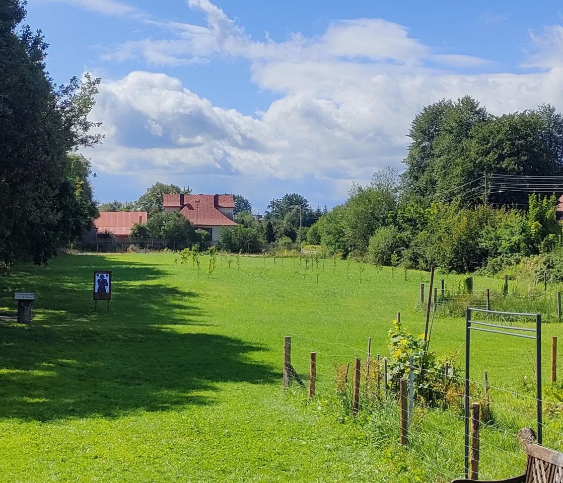
[[[4,280],[10,291],[35,291],[38,301],[31,326],[0,321],[0,418],[113,417],[210,404],[217,383],[279,377],[251,360],[262,347],[202,332],[198,295],[160,282],[158,266],[77,258],[79,265],[65,259]],[[94,266],[113,272],[109,313],[105,303],[93,312]]]

